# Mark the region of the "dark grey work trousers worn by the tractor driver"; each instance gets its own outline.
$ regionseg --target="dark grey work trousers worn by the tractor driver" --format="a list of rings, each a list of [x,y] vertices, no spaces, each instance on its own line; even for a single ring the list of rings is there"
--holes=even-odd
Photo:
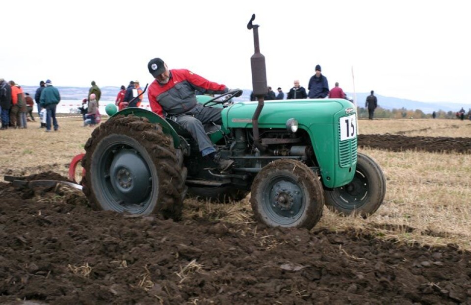
[[[222,125],[221,111],[222,108],[203,107],[198,104],[189,112],[177,116],[177,123],[188,130],[193,139],[198,142],[200,152],[213,146],[203,124],[214,122],[217,125]]]

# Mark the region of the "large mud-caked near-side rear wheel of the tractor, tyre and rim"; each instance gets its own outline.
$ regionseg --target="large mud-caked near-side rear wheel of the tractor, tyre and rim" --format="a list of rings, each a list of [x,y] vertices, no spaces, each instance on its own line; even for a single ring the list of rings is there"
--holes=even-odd
[[[146,118],[117,116],[85,144],[83,193],[95,209],[180,219],[186,168],[171,136]]]

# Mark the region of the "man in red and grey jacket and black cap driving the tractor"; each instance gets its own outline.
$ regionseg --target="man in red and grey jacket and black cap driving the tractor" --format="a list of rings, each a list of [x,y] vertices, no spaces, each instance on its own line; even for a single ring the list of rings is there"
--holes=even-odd
[[[161,117],[175,118],[196,140],[203,157],[212,159],[219,171],[228,170],[234,160],[220,157],[203,127],[203,124],[209,122],[222,125],[222,108],[203,107],[196,102],[196,90],[201,93],[223,94],[229,88],[186,69],[168,70],[167,64],[160,58],[151,59],[147,68],[155,78],[148,92],[152,111]]]

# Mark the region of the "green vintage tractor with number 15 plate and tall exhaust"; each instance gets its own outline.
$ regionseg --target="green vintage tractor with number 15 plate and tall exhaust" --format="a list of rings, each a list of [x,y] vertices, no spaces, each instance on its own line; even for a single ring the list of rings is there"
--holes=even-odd
[[[234,160],[226,172],[201,156],[178,123],[152,111],[123,109],[96,128],[82,160],[83,192],[98,209],[181,217],[183,200],[240,200],[249,193],[255,218],[269,227],[312,228],[324,204],[342,215],[374,213],[383,202],[381,168],[357,152],[356,109],[342,99],[264,102],[266,74],[254,29],[251,58],[258,102],[232,103],[241,90],[211,98],[222,107],[222,126],[207,133]]]

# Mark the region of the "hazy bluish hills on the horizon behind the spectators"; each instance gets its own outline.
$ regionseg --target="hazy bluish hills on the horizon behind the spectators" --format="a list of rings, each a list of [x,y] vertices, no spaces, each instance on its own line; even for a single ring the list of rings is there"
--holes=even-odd
[[[22,86],[24,92],[28,92],[33,98],[36,92],[37,86]],[[59,89],[61,98],[63,100],[82,100],[88,95],[88,87],[57,87]],[[119,92],[119,87],[106,86],[100,87],[102,90],[102,101],[115,101],[116,96]],[[144,89],[144,86],[142,86]],[[250,101],[251,89],[243,89],[244,93],[241,97],[235,98],[235,102]],[[286,92],[285,92],[286,93]],[[347,96],[352,96],[353,93],[346,92]],[[369,93],[357,93],[357,104],[360,107],[365,107],[365,100]],[[376,95],[376,94],[375,94]],[[378,98],[378,105],[384,109],[401,109],[405,108],[408,110],[420,109],[424,113],[432,113],[433,111],[443,110],[448,111],[458,111],[461,107],[464,107],[466,110],[471,108],[471,104],[462,104],[455,102],[419,102],[407,99],[400,99],[394,97],[385,97],[381,95],[376,95]],[[148,102],[147,93],[143,95],[143,102]]]

